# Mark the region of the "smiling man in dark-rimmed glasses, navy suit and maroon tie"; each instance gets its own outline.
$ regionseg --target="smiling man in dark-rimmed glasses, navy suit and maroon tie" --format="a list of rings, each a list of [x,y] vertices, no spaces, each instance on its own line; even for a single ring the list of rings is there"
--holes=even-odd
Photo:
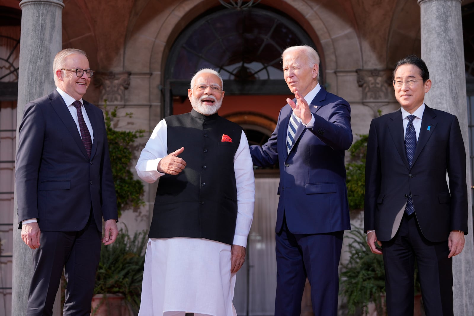
[[[64,268],[64,316],[89,316],[102,242],[117,237],[117,199],[102,111],[82,99],[93,71],[64,49],[56,90],[25,106],[15,180],[21,238],[33,249],[27,316],[52,315]]]

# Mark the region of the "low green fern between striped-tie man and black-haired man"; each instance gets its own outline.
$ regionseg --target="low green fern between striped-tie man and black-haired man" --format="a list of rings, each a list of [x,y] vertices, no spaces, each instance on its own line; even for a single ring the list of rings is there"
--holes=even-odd
[[[370,251],[360,228],[348,232],[350,259],[339,276],[341,294],[347,300],[349,315],[375,302],[377,314],[383,315],[381,294],[385,293],[385,271],[382,255]]]

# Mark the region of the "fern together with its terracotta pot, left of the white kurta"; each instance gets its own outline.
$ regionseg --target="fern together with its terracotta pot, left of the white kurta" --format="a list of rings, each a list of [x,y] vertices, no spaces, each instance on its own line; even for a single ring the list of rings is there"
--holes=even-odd
[[[147,240],[145,231],[131,237],[125,226],[113,244],[102,244],[91,315],[137,315]]]

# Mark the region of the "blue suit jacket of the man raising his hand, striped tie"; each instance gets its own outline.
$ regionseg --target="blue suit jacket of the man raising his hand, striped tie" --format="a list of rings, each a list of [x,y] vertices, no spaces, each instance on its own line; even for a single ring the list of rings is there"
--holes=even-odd
[[[272,136],[263,146],[250,146],[253,163],[279,163],[280,185],[275,230],[283,214],[293,234],[320,234],[350,229],[344,151],[352,144],[350,107],[321,87],[311,101],[312,128],[299,124],[287,153],[286,135],[292,114],[284,106]]]

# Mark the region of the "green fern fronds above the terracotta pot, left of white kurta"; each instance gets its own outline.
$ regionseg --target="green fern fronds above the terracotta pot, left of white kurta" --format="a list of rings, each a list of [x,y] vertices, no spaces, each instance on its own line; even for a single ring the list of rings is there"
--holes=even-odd
[[[140,307],[140,297],[145,263],[145,231],[128,235],[128,228],[120,228],[113,244],[100,249],[99,268],[96,274],[94,294],[123,294],[134,313]],[[99,305],[100,306],[100,305]],[[95,310],[92,311],[94,314]]]

